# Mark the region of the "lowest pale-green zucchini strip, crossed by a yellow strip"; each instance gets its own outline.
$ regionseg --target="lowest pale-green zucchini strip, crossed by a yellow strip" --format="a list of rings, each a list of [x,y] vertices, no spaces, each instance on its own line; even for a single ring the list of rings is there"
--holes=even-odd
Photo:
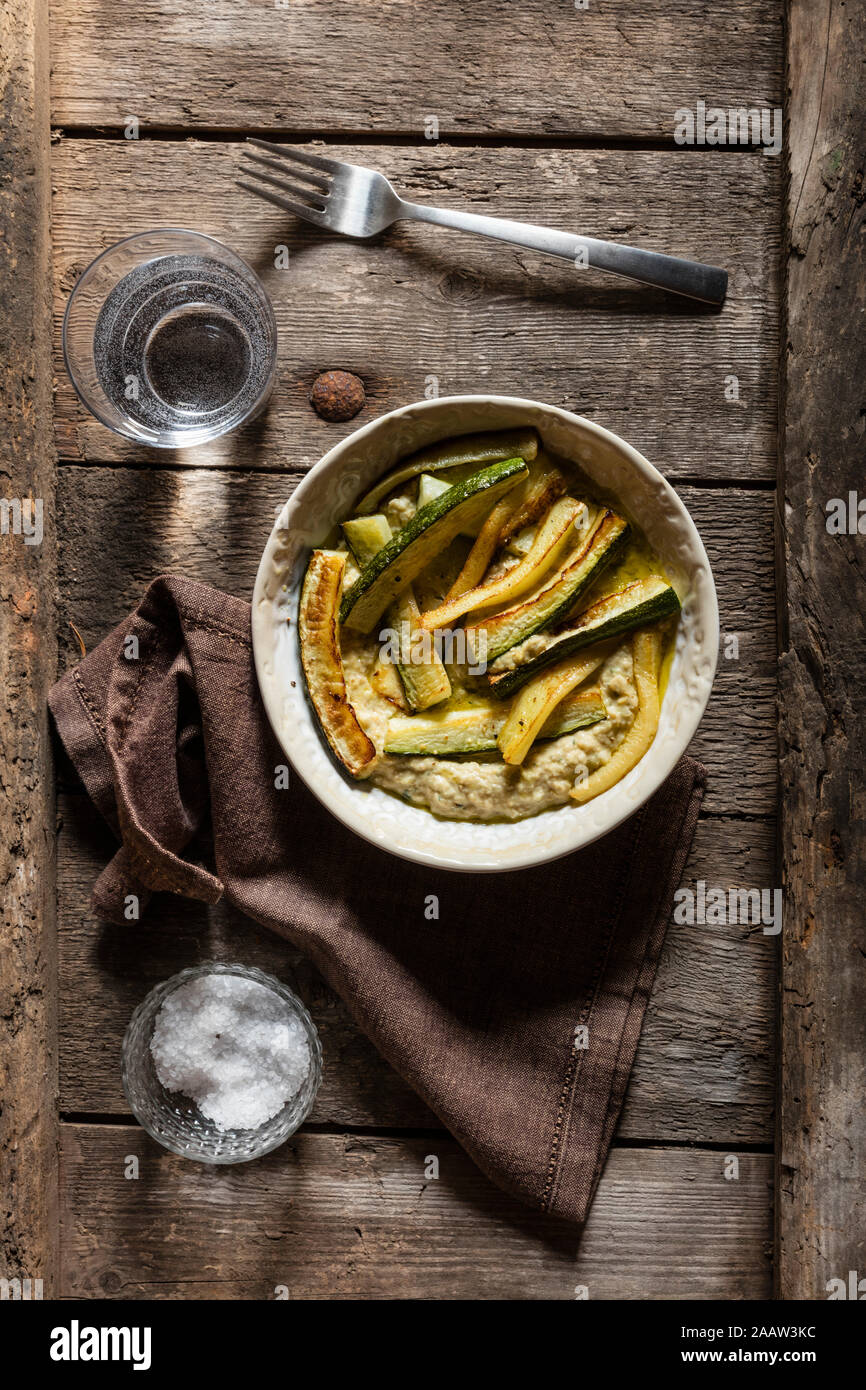
[[[562,738],[575,728],[598,724],[606,716],[602,692],[594,685],[564,701],[556,710],[556,719],[545,724],[539,738]],[[443,709],[413,719],[392,719],[385,734],[385,752],[427,758],[492,752],[505,720],[506,714],[498,701],[468,709]]]

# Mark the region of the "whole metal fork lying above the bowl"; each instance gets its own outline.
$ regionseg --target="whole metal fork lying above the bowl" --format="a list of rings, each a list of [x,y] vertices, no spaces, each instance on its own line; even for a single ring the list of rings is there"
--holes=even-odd
[[[267,150],[271,156],[275,154],[277,158],[245,150],[250,163],[242,165],[242,172],[256,182],[238,179],[238,185],[325,231],[339,232],[343,236],[375,236],[400,218],[436,222],[439,227],[478,232],[499,242],[562,256],[577,267],[594,265],[614,275],[627,275],[628,279],[639,279],[644,285],[670,289],[676,295],[702,299],[708,304],[724,303],[727,271],[716,265],[662,256],[659,252],[645,252],[637,246],[620,246],[617,242],[599,242],[594,236],[556,232],[546,227],[534,227],[531,222],[512,222],[502,217],[481,217],[477,213],[407,203],[399,197],[384,174],[377,174],[375,170],[343,164],[342,160],[274,145],[270,140],[250,139],[247,143]],[[263,172],[260,165],[275,170],[278,177]]]

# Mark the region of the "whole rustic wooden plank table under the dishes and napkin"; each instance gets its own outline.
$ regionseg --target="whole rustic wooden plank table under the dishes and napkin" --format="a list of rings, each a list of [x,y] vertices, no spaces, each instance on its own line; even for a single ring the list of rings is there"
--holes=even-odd
[[[766,1298],[781,1155],[777,1287],[823,1297],[837,1265],[847,1273],[866,1261],[862,1194],[840,1156],[842,1134],[862,1145],[863,1122],[852,1120],[838,1088],[830,1094],[815,1062],[816,1047],[833,1055],[835,1045],[838,1056],[853,1038],[853,1020],[845,1031],[831,1004],[822,929],[833,916],[848,952],[840,992],[849,1008],[863,998],[856,899],[845,895],[840,916],[820,847],[841,856],[838,887],[855,876],[852,837],[862,831],[842,824],[838,780],[830,803],[822,794],[819,774],[844,777],[827,713],[833,695],[823,706],[830,742],[803,708],[822,685],[819,671],[826,692],[827,673],[841,678],[845,663],[844,642],[822,641],[809,617],[830,612],[841,562],[822,557],[790,503],[817,509],[820,520],[823,498],[855,477],[853,436],[833,456],[827,443],[820,485],[803,460],[835,428],[809,354],[813,334],[835,352],[833,334],[817,329],[816,303],[826,300],[816,285],[833,295],[838,275],[815,238],[827,239],[837,265],[856,256],[851,227],[847,242],[833,210],[862,215],[849,168],[856,131],[848,129],[859,117],[844,99],[856,81],[845,54],[862,49],[862,17],[831,13],[830,0],[790,6],[790,136],[787,157],[773,158],[677,146],[673,131],[674,113],[698,99],[783,104],[783,0],[589,0],[585,10],[567,0],[57,3],[49,154],[44,13],[33,0],[15,3],[22,104],[4,157],[29,172],[15,195],[15,271],[7,264],[4,281],[19,304],[22,282],[26,295],[14,343],[24,366],[7,381],[7,486],[47,499],[49,524],[39,556],[8,538],[0,605],[6,689],[26,696],[15,706],[7,696],[1,713],[19,753],[7,771],[14,837],[11,848],[4,837],[0,860],[11,908],[11,949],[0,963],[0,1156],[15,1193],[1,1243],[8,1269],[74,1297],[574,1298],[584,1287],[592,1298]],[[831,76],[822,85],[826,54]],[[425,138],[431,117],[438,140]],[[826,146],[837,131],[834,163]],[[727,304],[717,314],[436,228],[405,224],[371,243],[318,234],[234,186],[247,133],[325,140],[418,200],[724,264]],[[192,225],[240,252],[263,275],[279,327],[267,417],[189,453],[147,453],[104,431],[78,404],[57,356],[76,275],[120,236],[154,225]],[[812,240],[798,245],[798,236]],[[795,254],[783,257],[791,242]],[[288,268],[275,267],[279,246]],[[56,467],[46,420],[49,250]],[[812,257],[808,282],[798,278],[803,256]],[[788,320],[783,354],[780,863],[774,513],[785,286],[799,317]],[[837,300],[834,321],[853,331],[856,295],[837,289]],[[367,406],[352,424],[327,424],[307,403],[327,367],[366,382]],[[773,888],[784,874],[788,892],[791,992],[781,1020],[785,1076],[796,1083],[783,1093],[781,1145],[780,938],[759,926],[671,923],[616,1144],[580,1240],[492,1187],[281,941],[225,906],[170,898],[128,931],[100,924],[88,898],[111,837],[63,760],[56,880],[46,835],[53,791],[43,701],[57,662],[74,664],[79,642],[97,644],[163,571],[247,595],[274,513],[304,470],[357,424],[430,392],[434,379],[442,395],[496,391],[571,407],[623,434],[674,482],[708,546],[723,626],[719,677],[694,744],[709,787],[684,884]],[[862,425],[853,396],[841,395],[841,409]],[[803,548],[817,585],[808,598],[796,578]],[[856,701],[845,709],[862,713]],[[815,845],[806,838],[813,820]],[[806,949],[816,933],[820,960]],[[150,986],[214,956],[295,983],[325,1051],[325,1081],[303,1131],[270,1158],[225,1170],[158,1150],[132,1122],[118,1068],[124,1027]],[[432,1154],[436,1182],[424,1176]],[[858,1252],[860,1266],[849,1264]]]

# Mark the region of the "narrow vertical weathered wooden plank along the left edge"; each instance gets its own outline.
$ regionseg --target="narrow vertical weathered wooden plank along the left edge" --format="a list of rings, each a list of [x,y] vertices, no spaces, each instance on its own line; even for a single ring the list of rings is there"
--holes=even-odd
[[[0,11],[0,1277],[57,1272],[47,6]]]

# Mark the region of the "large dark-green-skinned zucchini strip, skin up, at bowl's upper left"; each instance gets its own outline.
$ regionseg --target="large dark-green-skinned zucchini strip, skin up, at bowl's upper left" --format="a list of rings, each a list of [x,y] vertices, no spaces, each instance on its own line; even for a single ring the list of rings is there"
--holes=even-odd
[[[523,459],[503,459],[481,468],[416,512],[411,521],[364,566],[339,609],[348,627],[368,632],[399,594],[450,545],[470,520],[481,520],[527,477]]]

